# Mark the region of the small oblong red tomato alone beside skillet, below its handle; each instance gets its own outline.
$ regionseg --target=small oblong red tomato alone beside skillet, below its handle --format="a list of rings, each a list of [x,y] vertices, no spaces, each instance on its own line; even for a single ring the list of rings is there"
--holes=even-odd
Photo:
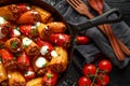
[[[78,37],[76,37],[76,42],[77,42],[77,44],[87,44],[90,42],[90,39],[84,35],[78,35]]]

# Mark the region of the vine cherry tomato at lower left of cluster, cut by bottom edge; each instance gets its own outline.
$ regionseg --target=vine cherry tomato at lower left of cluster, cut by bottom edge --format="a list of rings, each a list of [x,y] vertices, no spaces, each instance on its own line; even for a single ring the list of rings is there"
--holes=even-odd
[[[87,76],[81,76],[78,80],[78,86],[90,86],[91,85],[91,80]]]

